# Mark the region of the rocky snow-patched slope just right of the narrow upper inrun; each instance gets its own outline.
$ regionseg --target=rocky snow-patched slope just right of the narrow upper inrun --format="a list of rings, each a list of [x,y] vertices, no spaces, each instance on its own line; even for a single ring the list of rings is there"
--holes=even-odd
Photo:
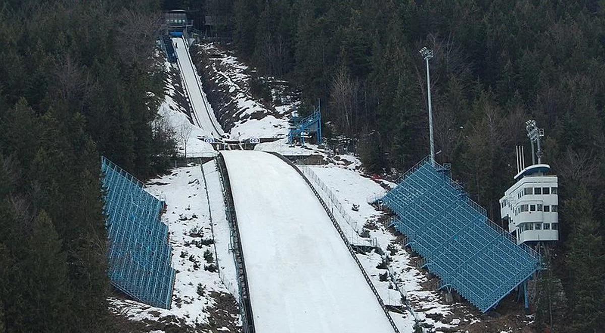
[[[298,100],[287,93],[287,83],[263,78],[271,101],[262,102],[253,96],[251,84],[254,70],[244,65],[224,45],[199,44],[197,65],[204,90],[215,113],[232,139],[250,137],[284,137],[289,131],[288,118]],[[192,54],[193,55],[193,54]]]

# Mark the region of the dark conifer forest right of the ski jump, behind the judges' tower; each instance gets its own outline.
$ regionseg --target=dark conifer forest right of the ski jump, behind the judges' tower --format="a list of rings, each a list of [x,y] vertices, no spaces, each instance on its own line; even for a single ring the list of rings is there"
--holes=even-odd
[[[307,105],[321,98],[326,133],[358,139],[371,172],[428,153],[419,49],[432,48],[437,159],[494,220],[536,119],[560,176],[554,265],[568,302],[555,320],[560,331],[605,327],[605,2],[208,0],[206,10],[231,19],[219,32],[261,74],[299,84]]]

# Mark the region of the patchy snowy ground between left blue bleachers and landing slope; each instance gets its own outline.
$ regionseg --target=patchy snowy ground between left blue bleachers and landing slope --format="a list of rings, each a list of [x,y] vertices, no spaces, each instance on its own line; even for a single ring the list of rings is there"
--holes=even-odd
[[[162,221],[169,226],[172,266],[176,271],[172,306],[166,310],[112,298],[112,310],[146,323],[149,331],[237,331],[237,303],[215,269],[215,238],[200,166],[172,170],[171,174],[149,181],[146,190],[166,197],[168,208]],[[224,219],[224,211],[213,211],[218,219],[221,213]]]

